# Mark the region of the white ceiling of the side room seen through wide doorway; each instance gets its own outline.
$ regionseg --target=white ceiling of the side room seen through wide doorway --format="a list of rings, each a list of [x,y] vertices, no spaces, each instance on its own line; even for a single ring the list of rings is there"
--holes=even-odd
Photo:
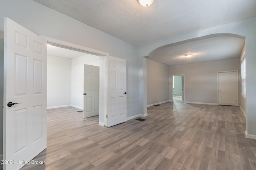
[[[70,50],[70,49],[64,49],[64,48],[56,47],[53,45],[47,45],[47,55],[53,55],[53,56],[66,57],[66,58],[73,59],[76,57],[86,55],[86,53],[82,53],[82,52],[74,51],[74,50]]]

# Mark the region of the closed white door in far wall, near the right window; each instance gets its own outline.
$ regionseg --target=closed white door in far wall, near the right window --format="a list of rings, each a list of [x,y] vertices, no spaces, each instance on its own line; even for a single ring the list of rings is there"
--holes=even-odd
[[[218,73],[219,104],[238,106],[238,71]]]

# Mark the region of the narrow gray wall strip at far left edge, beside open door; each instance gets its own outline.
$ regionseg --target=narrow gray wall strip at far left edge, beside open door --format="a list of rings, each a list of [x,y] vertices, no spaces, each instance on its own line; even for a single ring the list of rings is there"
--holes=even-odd
[[[0,38],[0,154],[3,153],[4,39]]]

